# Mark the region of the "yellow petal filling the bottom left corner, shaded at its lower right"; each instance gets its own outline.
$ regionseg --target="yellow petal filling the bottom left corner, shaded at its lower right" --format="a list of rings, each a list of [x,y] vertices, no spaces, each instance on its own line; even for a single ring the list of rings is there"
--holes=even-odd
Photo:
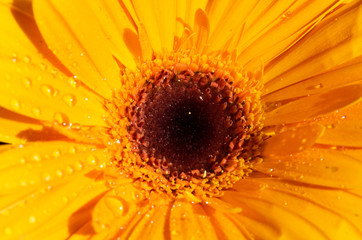
[[[87,218],[78,218],[77,211],[85,205],[88,216],[92,199],[107,191],[104,183],[97,183],[83,175],[69,177],[62,185],[40,188],[22,197],[0,217],[2,239],[46,239],[54,236],[65,239]],[[4,235],[5,232],[5,235]],[[56,235],[54,234],[56,233]],[[34,238],[32,238],[34,237]]]

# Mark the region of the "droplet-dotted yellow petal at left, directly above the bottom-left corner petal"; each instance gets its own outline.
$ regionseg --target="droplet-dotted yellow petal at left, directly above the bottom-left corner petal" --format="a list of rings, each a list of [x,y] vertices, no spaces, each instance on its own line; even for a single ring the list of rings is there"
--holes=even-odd
[[[103,149],[61,141],[13,145],[1,153],[1,194],[29,192],[101,166]]]

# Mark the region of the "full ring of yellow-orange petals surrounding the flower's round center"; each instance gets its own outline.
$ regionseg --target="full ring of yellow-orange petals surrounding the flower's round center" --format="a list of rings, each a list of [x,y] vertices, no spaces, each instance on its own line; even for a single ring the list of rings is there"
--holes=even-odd
[[[361,239],[361,5],[1,0],[0,238]],[[263,84],[262,160],[220,197],[140,188],[101,141],[122,74],[182,51]]]

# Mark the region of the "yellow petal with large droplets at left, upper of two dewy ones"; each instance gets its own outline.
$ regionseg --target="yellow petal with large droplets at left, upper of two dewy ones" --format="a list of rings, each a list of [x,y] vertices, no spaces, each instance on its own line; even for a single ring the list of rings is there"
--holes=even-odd
[[[9,110],[47,122],[104,126],[103,100],[73,78],[52,75],[40,65],[0,59],[3,86],[1,105]],[[73,84],[73,86],[72,86]]]

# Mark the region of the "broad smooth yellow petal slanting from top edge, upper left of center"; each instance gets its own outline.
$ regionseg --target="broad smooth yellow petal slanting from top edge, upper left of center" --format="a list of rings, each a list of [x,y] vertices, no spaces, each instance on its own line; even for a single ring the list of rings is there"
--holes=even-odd
[[[120,70],[92,7],[83,1],[34,1],[33,8],[53,53],[91,89],[111,97],[120,87]]]

